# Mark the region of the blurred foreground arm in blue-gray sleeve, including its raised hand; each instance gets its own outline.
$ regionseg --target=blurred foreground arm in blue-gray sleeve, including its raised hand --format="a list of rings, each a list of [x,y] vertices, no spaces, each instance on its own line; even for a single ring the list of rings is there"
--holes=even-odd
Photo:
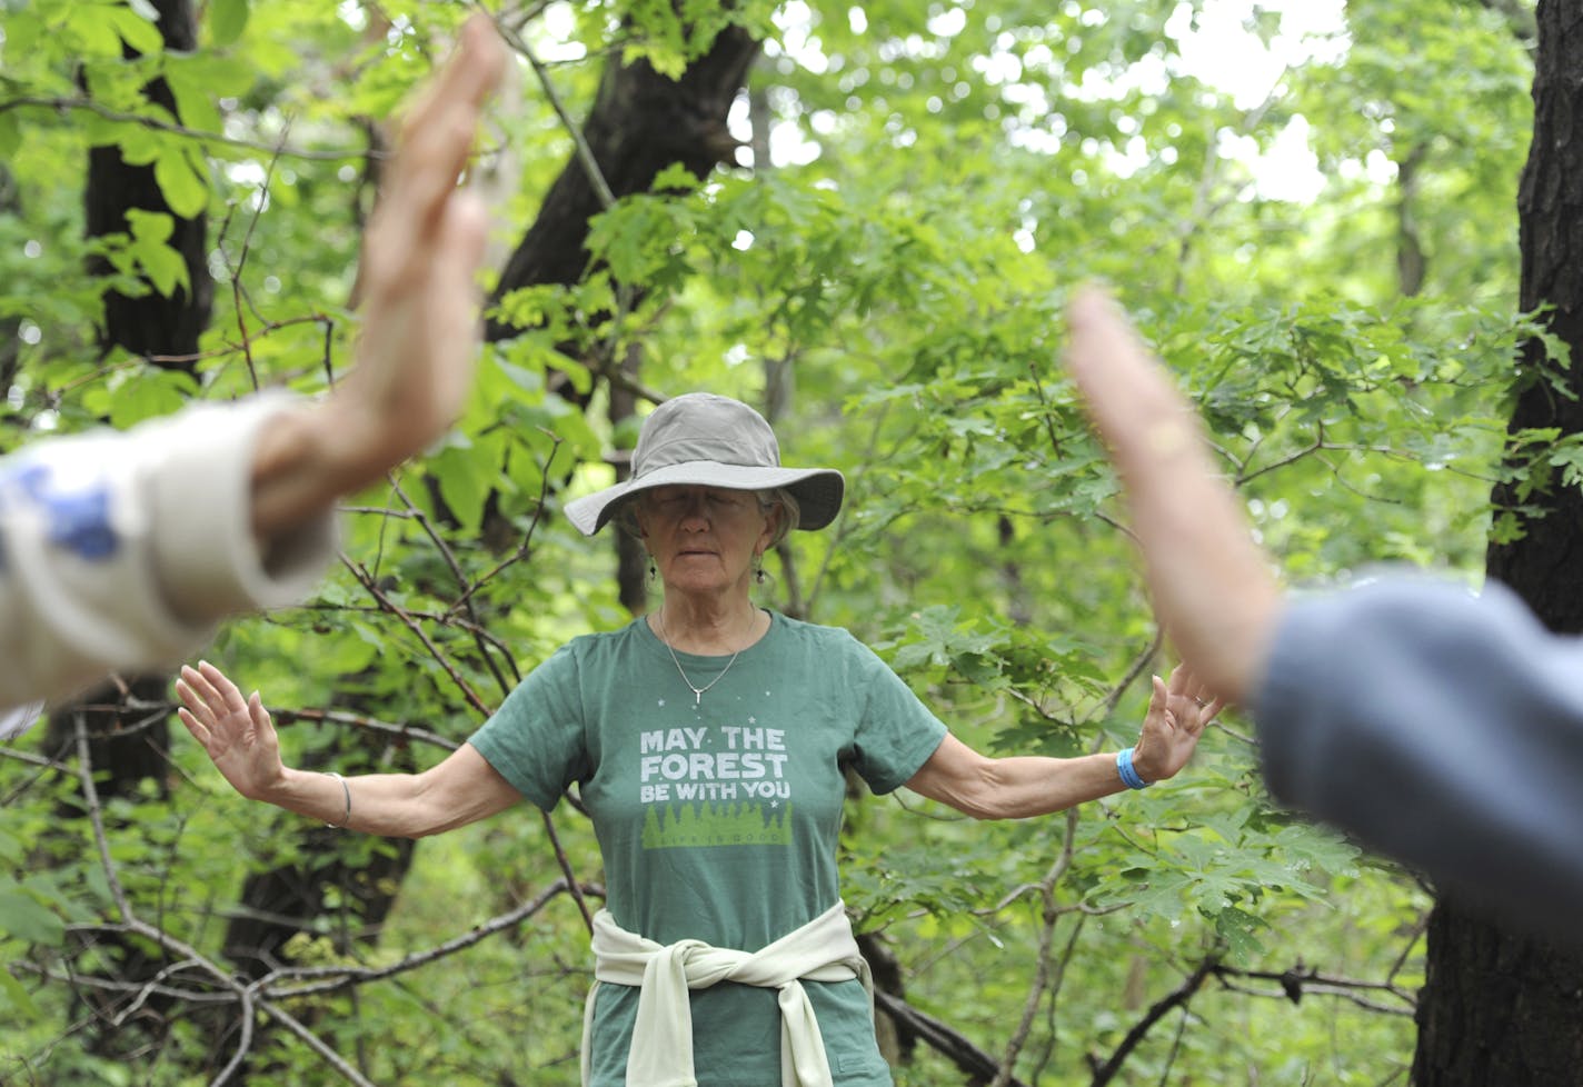
[[[1159,620],[1205,687],[1251,710],[1274,796],[1505,921],[1583,940],[1583,641],[1501,585],[1399,576],[1287,598],[1116,305],[1084,290],[1067,321]]]

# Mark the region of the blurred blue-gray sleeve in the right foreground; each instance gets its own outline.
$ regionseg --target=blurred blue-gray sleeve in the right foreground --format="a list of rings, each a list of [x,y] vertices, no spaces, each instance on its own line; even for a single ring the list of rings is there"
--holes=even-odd
[[[1507,918],[1583,916],[1583,641],[1507,589],[1296,600],[1254,703],[1274,796]]]

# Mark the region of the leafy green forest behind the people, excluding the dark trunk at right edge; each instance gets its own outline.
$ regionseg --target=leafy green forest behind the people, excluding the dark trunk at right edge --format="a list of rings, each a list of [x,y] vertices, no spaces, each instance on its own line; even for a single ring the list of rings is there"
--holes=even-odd
[[[1521,353],[1567,358],[1520,299],[1536,9],[1289,8],[489,5],[518,63],[472,177],[476,394],[348,503],[313,601],[209,658],[288,761],[432,764],[646,606],[630,546],[559,509],[652,402],[709,389],[848,476],[763,603],[848,627],[980,748],[1126,745],[1170,658],[1057,365],[1092,278],[1293,585],[1475,585],[1583,464],[1558,429],[1502,456]],[[0,449],[321,391],[385,119],[469,11],[0,0]],[[231,794],[168,684],[0,750],[0,1081],[576,1082],[600,867],[575,797],[331,832]],[[1235,712],[1175,782],[1067,816],[855,786],[842,872],[904,1087],[1384,1085],[1422,1044],[1433,888],[1271,804]]]

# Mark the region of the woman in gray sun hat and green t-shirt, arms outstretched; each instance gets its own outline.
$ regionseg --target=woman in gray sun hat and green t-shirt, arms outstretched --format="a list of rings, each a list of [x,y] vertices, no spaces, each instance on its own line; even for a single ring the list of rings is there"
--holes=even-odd
[[[564,646],[434,769],[285,767],[258,695],[207,663],[182,671],[182,722],[244,796],[370,834],[548,812],[576,785],[606,877],[586,1084],[885,1087],[836,873],[845,769],[975,818],[1046,815],[1175,775],[1220,704],[1176,669],[1133,748],[986,758],[847,631],[754,604],[765,551],[836,517],[839,472],[782,467],[769,424],[709,394],[657,407],[632,465],[567,517],[636,533],[659,609]]]

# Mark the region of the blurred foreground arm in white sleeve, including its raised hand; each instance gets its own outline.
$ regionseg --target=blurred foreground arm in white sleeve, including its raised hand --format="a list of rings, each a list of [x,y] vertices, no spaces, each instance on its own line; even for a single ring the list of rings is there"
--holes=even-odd
[[[336,500],[445,430],[476,350],[483,212],[456,180],[503,51],[483,16],[413,109],[364,248],[366,329],[323,403],[279,392],[0,459],[0,739],[116,669],[161,666],[233,612],[306,597]]]

